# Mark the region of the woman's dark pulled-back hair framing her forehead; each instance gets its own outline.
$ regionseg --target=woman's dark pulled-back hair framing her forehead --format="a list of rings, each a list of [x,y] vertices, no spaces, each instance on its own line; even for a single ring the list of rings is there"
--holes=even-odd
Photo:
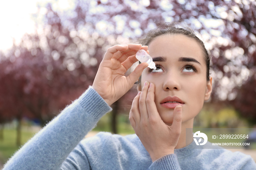
[[[184,23],[161,23],[159,26],[151,31],[149,31],[147,34],[145,34],[142,38],[138,39],[138,43],[142,44],[143,46],[149,45],[149,43],[157,38],[160,35],[185,35],[189,38],[192,38],[196,40],[196,42],[199,43],[203,50],[204,54],[204,60],[206,62],[206,80],[210,81],[210,54],[209,51],[204,46],[204,43],[202,40],[200,40],[196,34],[195,31],[192,30],[192,28],[186,26]],[[137,84],[140,84],[141,77],[139,78]]]

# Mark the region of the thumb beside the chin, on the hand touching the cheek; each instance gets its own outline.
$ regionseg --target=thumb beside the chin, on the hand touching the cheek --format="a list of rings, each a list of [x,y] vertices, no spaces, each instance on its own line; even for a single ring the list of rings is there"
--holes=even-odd
[[[181,122],[182,122],[182,106],[176,106],[173,111],[173,123],[172,131],[177,136],[180,136],[181,133]]]

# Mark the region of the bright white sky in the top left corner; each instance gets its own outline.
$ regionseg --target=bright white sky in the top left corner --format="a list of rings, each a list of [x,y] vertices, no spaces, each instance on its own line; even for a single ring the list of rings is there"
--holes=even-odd
[[[0,51],[10,49],[13,39],[19,43],[22,35],[33,33],[35,25],[31,14],[38,11],[37,5],[44,5],[49,2],[55,2],[53,8],[67,9],[72,6],[72,0],[1,0]]]

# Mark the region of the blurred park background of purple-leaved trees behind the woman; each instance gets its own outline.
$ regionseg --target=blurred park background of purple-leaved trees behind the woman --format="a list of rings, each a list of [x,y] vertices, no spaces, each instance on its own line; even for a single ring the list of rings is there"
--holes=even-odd
[[[256,124],[254,0],[10,0],[0,11],[0,165],[92,85],[110,46],[159,22],[186,22],[211,53],[213,93],[194,126]],[[134,87],[94,131],[133,133],[135,95]]]

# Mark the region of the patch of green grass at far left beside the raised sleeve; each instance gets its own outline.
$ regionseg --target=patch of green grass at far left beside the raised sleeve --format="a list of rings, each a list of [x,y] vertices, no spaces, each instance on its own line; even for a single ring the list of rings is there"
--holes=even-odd
[[[0,162],[5,163],[19,147],[16,145],[16,130],[14,129],[4,129],[4,139],[0,140]],[[21,131],[21,144],[29,140],[35,132]]]

